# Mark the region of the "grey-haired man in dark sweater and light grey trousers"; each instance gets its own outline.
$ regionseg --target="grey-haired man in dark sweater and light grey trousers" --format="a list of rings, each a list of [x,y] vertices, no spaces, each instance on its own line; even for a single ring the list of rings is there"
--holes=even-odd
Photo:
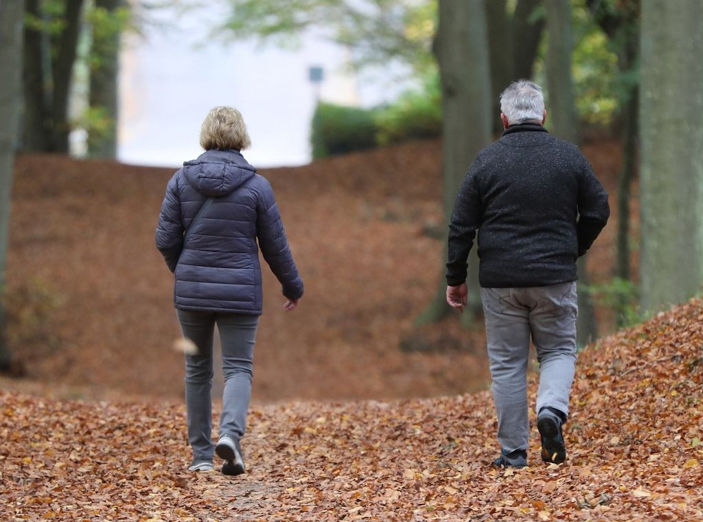
[[[542,89],[520,80],[501,94],[505,132],[484,148],[461,185],[449,226],[446,300],[463,310],[467,255],[479,232],[486,320],[501,456],[527,465],[530,336],[540,382],[542,459],[566,458],[562,425],[576,364],[576,259],[605,227],[607,193],[579,148],[551,136]]]

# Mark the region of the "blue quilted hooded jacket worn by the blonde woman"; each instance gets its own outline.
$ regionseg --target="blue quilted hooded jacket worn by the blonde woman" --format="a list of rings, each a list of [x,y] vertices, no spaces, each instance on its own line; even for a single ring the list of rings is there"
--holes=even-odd
[[[283,295],[303,295],[271,185],[238,151],[207,151],[183,163],[166,188],[156,246],[176,278],[176,308],[261,314],[259,247]]]

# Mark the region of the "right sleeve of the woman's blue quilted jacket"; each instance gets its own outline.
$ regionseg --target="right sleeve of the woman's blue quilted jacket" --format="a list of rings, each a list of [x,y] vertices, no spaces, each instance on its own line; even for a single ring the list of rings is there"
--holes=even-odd
[[[288,247],[283,220],[280,219],[280,212],[273,198],[273,189],[264,178],[259,187],[257,203],[257,238],[259,238],[259,248],[262,250],[264,260],[283,286],[283,295],[288,299],[301,298],[303,281],[300,279]]]

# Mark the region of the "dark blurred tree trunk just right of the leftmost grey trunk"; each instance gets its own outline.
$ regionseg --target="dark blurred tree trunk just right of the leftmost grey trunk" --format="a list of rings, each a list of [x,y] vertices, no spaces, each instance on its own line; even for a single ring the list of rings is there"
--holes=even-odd
[[[26,0],[26,12],[34,20],[43,20],[39,0]],[[24,117],[22,143],[26,152],[51,151],[51,49],[49,34],[25,27]]]

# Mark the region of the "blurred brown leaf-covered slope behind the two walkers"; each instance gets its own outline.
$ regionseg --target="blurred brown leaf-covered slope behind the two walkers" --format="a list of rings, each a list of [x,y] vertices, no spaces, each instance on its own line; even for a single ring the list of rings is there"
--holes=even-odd
[[[619,145],[596,141],[584,152],[614,206]],[[254,402],[486,388],[482,324],[461,329],[455,313],[413,326],[444,273],[440,165],[440,142],[420,141],[262,171],[306,293],[285,313],[280,285],[264,265]],[[174,170],[19,158],[8,292],[11,343],[25,378],[5,379],[2,388],[68,398],[182,397],[173,279],[154,245]],[[636,205],[632,211],[636,227]],[[612,276],[616,221],[589,254],[594,282]],[[612,314],[603,308],[599,315],[601,331],[612,331]]]

